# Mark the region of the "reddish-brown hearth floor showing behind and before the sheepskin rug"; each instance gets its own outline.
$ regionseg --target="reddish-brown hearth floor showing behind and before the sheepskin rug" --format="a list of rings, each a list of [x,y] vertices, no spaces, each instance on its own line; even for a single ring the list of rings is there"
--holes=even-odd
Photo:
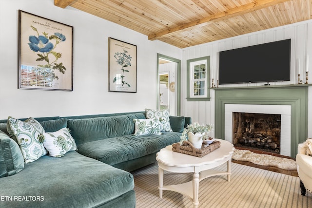
[[[235,147],[236,148],[236,147]],[[243,148],[236,148],[236,149],[241,149],[241,150],[244,150]],[[247,150],[247,149],[245,149]],[[249,151],[253,151],[253,150],[249,150]],[[259,153],[259,154],[270,154],[268,152],[260,152],[260,151],[254,151],[254,153]],[[287,156],[283,156],[283,155],[277,155],[277,154],[273,154],[274,156],[280,156],[280,157],[286,157],[286,158],[289,158],[289,159],[293,159],[291,157],[287,157]],[[279,169],[277,167],[273,167],[273,166],[261,166],[261,165],[256,165],[254,163],[251,163],[251,162],[247,162],[247,161],[237,161],[237,160],[234,160],[232,159],[232,162],[233,163],[238,163],[238,164],[241,164],[241,165],[246,165],[246,166],[251,166],[251,167],[254,167],[254,168],[259,168],[259,169],[264,169],[264,170],[270,170],[270,171],[273,171],[273,172],[279,172],[279,173],[283,173],[283,174],[286,174],[286,175],[292,175],[292,176],[295,176],[295,177],[298,177],[298,172],[297,170],[283,170],[283,169]]]

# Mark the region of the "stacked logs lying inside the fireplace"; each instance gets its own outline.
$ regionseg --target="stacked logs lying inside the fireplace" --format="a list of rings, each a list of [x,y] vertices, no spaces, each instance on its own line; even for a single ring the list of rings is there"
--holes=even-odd
[[[260,148],[265,150],[273,150],[276,152],[280,151],[280,147],[276,142],[273,141],[271,135],[261,133],[244,133],[244,135],[238,138],[238,142],[241,145]]]

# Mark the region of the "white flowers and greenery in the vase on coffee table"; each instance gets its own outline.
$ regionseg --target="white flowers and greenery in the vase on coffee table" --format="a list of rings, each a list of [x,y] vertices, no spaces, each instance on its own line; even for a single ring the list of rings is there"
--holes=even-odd
[[[195,122],[194,124],[188,124],[187,128],[184,128],[184,131],[182,132],[182,135],[180,136],[180,144],[183,144],[183,141],[188,140],[187,133],[193,132],[194,134],[199,132],[203,134],[202,140],[209,139],[209,132],[211,132],[214,129],[213,124],[199,124]]]

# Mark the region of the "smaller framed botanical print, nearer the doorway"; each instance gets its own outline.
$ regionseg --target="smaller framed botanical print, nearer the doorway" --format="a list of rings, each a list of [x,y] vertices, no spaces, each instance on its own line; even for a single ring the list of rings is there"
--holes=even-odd
[[[108,39],[108,92],[137,93],[137,46]]]

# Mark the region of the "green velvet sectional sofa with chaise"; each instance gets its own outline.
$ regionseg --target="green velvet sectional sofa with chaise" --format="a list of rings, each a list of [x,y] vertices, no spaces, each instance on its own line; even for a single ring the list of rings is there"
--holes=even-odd
[[[155,163],[156,152],[178,142],[191,118],[170,116],[173,132],[141,136],[134,135],[134,118],[145,119],[145,112],[35,118],[45,132],[69,128],[77,150],[25,164],[7,120],[0,120],[0,207],[135,207],[130,171]]]

